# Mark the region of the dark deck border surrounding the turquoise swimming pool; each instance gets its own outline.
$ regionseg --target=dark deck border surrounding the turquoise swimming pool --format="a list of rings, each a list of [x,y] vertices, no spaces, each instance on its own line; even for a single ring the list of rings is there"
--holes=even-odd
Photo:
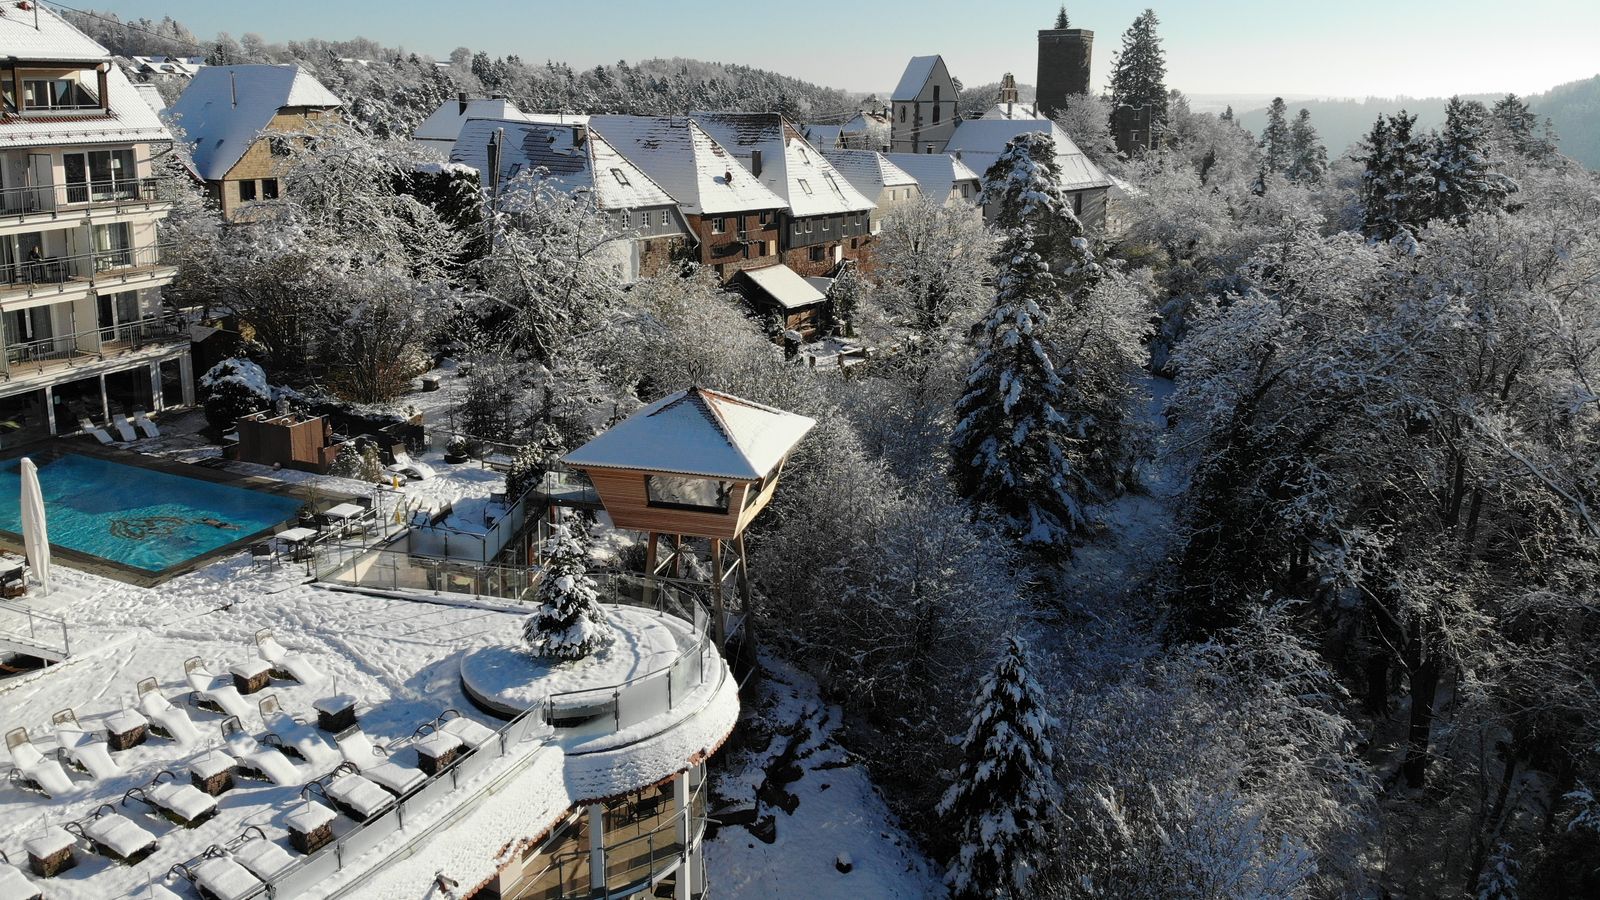
[[[118,463],[123,466],[134,466],[139,469],[150,469],[155,472],[165,472],[170,476],[179,476],[186,479],[195,479],[211,484],[226,484],[229,487],[238,487],[246,490],[258,490],[261,493],[270,493],[275,496],[288,496],[301,503],[310,503],[315,511],[328,509],[339,503],[358,503],[362,498],[349,493],[338,493],[323,488],[307,487],[302,484],[290,484],[277,479],[246,476],[240,472],[232,472],[227,469],[211,469],[206,466],[194,466],[189,463],[178,463],[173,460],[165,460],[160,456],[149,456],[146,453],[136,453],[133,450],[118,450],[115,447],[106,447],[91,437],[61,437],[45,442],[34,442],[24,447],[14,447],[8,450],[0,450],[0,461],[16,460],[19,456],[30,456],[35,461],[58,460],[64,455],[77,453],[80,456],[93,456],[106,460],[110,463]],[[210,565],[211,562],[232,556],[243,551],[250,544],[259,543],[270,535],[275,535],[286,528],[291,520],[285,519],[270,528],[262,528],[251,535],[245,535],[237,541],[222,544],[219,548],[202,552],[200,556],[186,559],[178,565],[170,565],[160,572],[150,572],[147,569],[136,569],[133,565],[122,565],[99,556],[91,556],[75,549],[69,549],[59,544],[50,544],[51,559],[61,560],[72,569],[80,569],[83,572],[93,572],[106,578],[114,578],[117,581],[125,581],[128,585],[138,585],[141,588],[154,588],[163,581],[170,581],[179,575],[187,575],[197,569]],[[14,532],[6,532],[0,528],[0,549],[8,549],[16,554],[22,554],[22,535]]]

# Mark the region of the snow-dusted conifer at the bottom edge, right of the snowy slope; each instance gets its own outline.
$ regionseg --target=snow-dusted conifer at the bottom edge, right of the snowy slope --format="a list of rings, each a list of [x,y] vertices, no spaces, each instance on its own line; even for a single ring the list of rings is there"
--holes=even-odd
[[[1027,671],[1027,649],[1011,637],[978,687],[965,759],[939,801],[960,838],[946,881],[955,897],[1030,897],[1029,881],[1043,842],[1054,791],[1050,732],[1054,717]]]

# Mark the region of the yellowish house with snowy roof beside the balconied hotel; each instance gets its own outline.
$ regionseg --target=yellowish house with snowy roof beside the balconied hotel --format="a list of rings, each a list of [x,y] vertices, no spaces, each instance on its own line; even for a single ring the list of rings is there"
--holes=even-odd
[[[275,200],[285,157],[342,102],[298,66],[206,66],[166,110],[190,146],[195,176],[237,219],[253,200]]]

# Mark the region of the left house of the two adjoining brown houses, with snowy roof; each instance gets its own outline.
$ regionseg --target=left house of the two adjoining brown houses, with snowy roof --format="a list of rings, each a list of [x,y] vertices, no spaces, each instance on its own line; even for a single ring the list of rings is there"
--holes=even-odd
[[[594,115],[589,127],[677,200],[702,266],[726,282],[741,269],[778,264],[779,215],[787,202],[696,120]]]

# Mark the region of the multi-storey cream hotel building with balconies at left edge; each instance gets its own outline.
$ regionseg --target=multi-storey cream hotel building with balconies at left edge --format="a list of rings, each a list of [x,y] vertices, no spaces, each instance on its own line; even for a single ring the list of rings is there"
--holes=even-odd
[[[162,307],[171,141],[110,53],[48,6],[0,3],[0,434],[6,444],[194,402]]]

